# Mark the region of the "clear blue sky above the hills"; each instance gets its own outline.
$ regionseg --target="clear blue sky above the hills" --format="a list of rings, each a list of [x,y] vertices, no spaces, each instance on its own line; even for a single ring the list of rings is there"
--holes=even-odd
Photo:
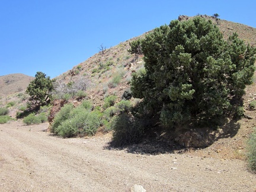
[[[255,0],[0,0],[0,76],[41,71],[54,78],[101,44],[115,46],[178,15],[217,13],[256,28],[255,8]]]

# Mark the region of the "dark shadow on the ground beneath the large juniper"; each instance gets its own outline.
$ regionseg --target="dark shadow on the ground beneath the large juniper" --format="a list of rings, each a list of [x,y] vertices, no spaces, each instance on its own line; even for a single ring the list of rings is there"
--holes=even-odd
[[[166,131],[162,127],[152,127],[145,132],[140,143],[115,146],[109,142],[104,149],[125,150],[128,153],[158,155],[163,153],[184,153],[191,149],[204,149],[219,139],[234,137],[240,128],[237,119],[222,119],[222,126],[207,126],[181,130],[178,135],[174,130]]]

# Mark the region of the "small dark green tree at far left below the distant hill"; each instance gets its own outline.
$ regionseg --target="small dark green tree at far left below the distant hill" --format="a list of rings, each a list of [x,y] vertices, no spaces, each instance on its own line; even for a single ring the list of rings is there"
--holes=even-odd
[[[35,79],[30,82],[26,93],[30,95],[28,104],[40,107],[50,103],[50,92],[53,90],[52,80],[43,72],[37,72]]]

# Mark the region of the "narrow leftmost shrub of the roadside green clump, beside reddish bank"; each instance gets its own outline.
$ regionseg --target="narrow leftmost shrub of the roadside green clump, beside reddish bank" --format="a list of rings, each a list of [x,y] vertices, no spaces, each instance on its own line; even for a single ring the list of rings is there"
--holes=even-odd
[[[56,114],[55,118],[53,119],[53,124],[51,126],[51,132],[56,133],[57,127],[62,124],[65,120],[69,119],[71,116],[71,111],[73,109],[72,104],[65,104],[59,111],[59,113]]]

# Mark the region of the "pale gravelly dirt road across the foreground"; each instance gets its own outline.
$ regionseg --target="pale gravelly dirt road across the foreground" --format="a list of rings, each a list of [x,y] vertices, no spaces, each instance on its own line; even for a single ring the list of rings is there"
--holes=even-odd
[[[61,139],[48,124],[0,124],[0,191],[255,191],[244,161],[105,149],[109,136]]]

